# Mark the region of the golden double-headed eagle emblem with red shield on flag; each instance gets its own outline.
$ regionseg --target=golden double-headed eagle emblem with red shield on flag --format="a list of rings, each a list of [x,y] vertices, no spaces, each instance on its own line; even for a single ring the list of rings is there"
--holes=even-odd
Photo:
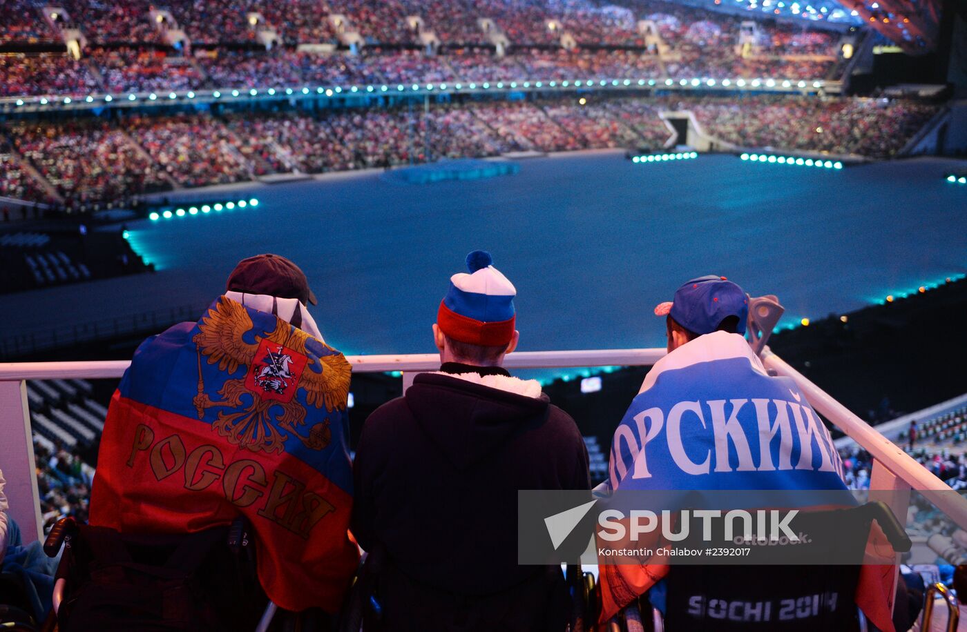
[[[213,429],[230,443],[256,452],[284,451],[287,433],[311,449],[329,445],[328,418],[313,424],[308,436],[298,429],[306,424],[307,407],[325,407],[327,413],[345,410],[352,367],[341,354],[307,353],[306,344],[314,339],[278,319],[275,330],[259,332],[248,310],[225,297],[209,308],[198,329],[192,341],[198,350],[198,392],[193,404],[199,419],[209,408],[228,409],[219,412]],[[205,392],[203,359],[217,363],[229,376],[240,367],[247,371],[240,378],[225,380],[218,392],[220,399],[213,400]],[[298,397],[299,390],[305,391],[305,404]]]

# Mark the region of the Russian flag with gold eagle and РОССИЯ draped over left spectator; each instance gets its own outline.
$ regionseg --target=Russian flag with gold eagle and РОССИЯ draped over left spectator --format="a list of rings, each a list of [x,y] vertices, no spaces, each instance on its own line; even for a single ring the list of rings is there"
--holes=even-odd
[[[269,598],[336,612],[359,560],[350,371],[305,331],[226,297],[148,338],[107,412],[91,524],[180,533],[245,516]]]

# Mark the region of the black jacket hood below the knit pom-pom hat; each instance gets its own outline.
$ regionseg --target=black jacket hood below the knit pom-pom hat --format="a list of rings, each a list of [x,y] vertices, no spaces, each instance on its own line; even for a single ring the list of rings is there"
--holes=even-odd
[[[407,406],[457,470],[472,468],[515,433],[536,427],[550,400],[491,388],[444,373],[421,373],[404,396]]]

